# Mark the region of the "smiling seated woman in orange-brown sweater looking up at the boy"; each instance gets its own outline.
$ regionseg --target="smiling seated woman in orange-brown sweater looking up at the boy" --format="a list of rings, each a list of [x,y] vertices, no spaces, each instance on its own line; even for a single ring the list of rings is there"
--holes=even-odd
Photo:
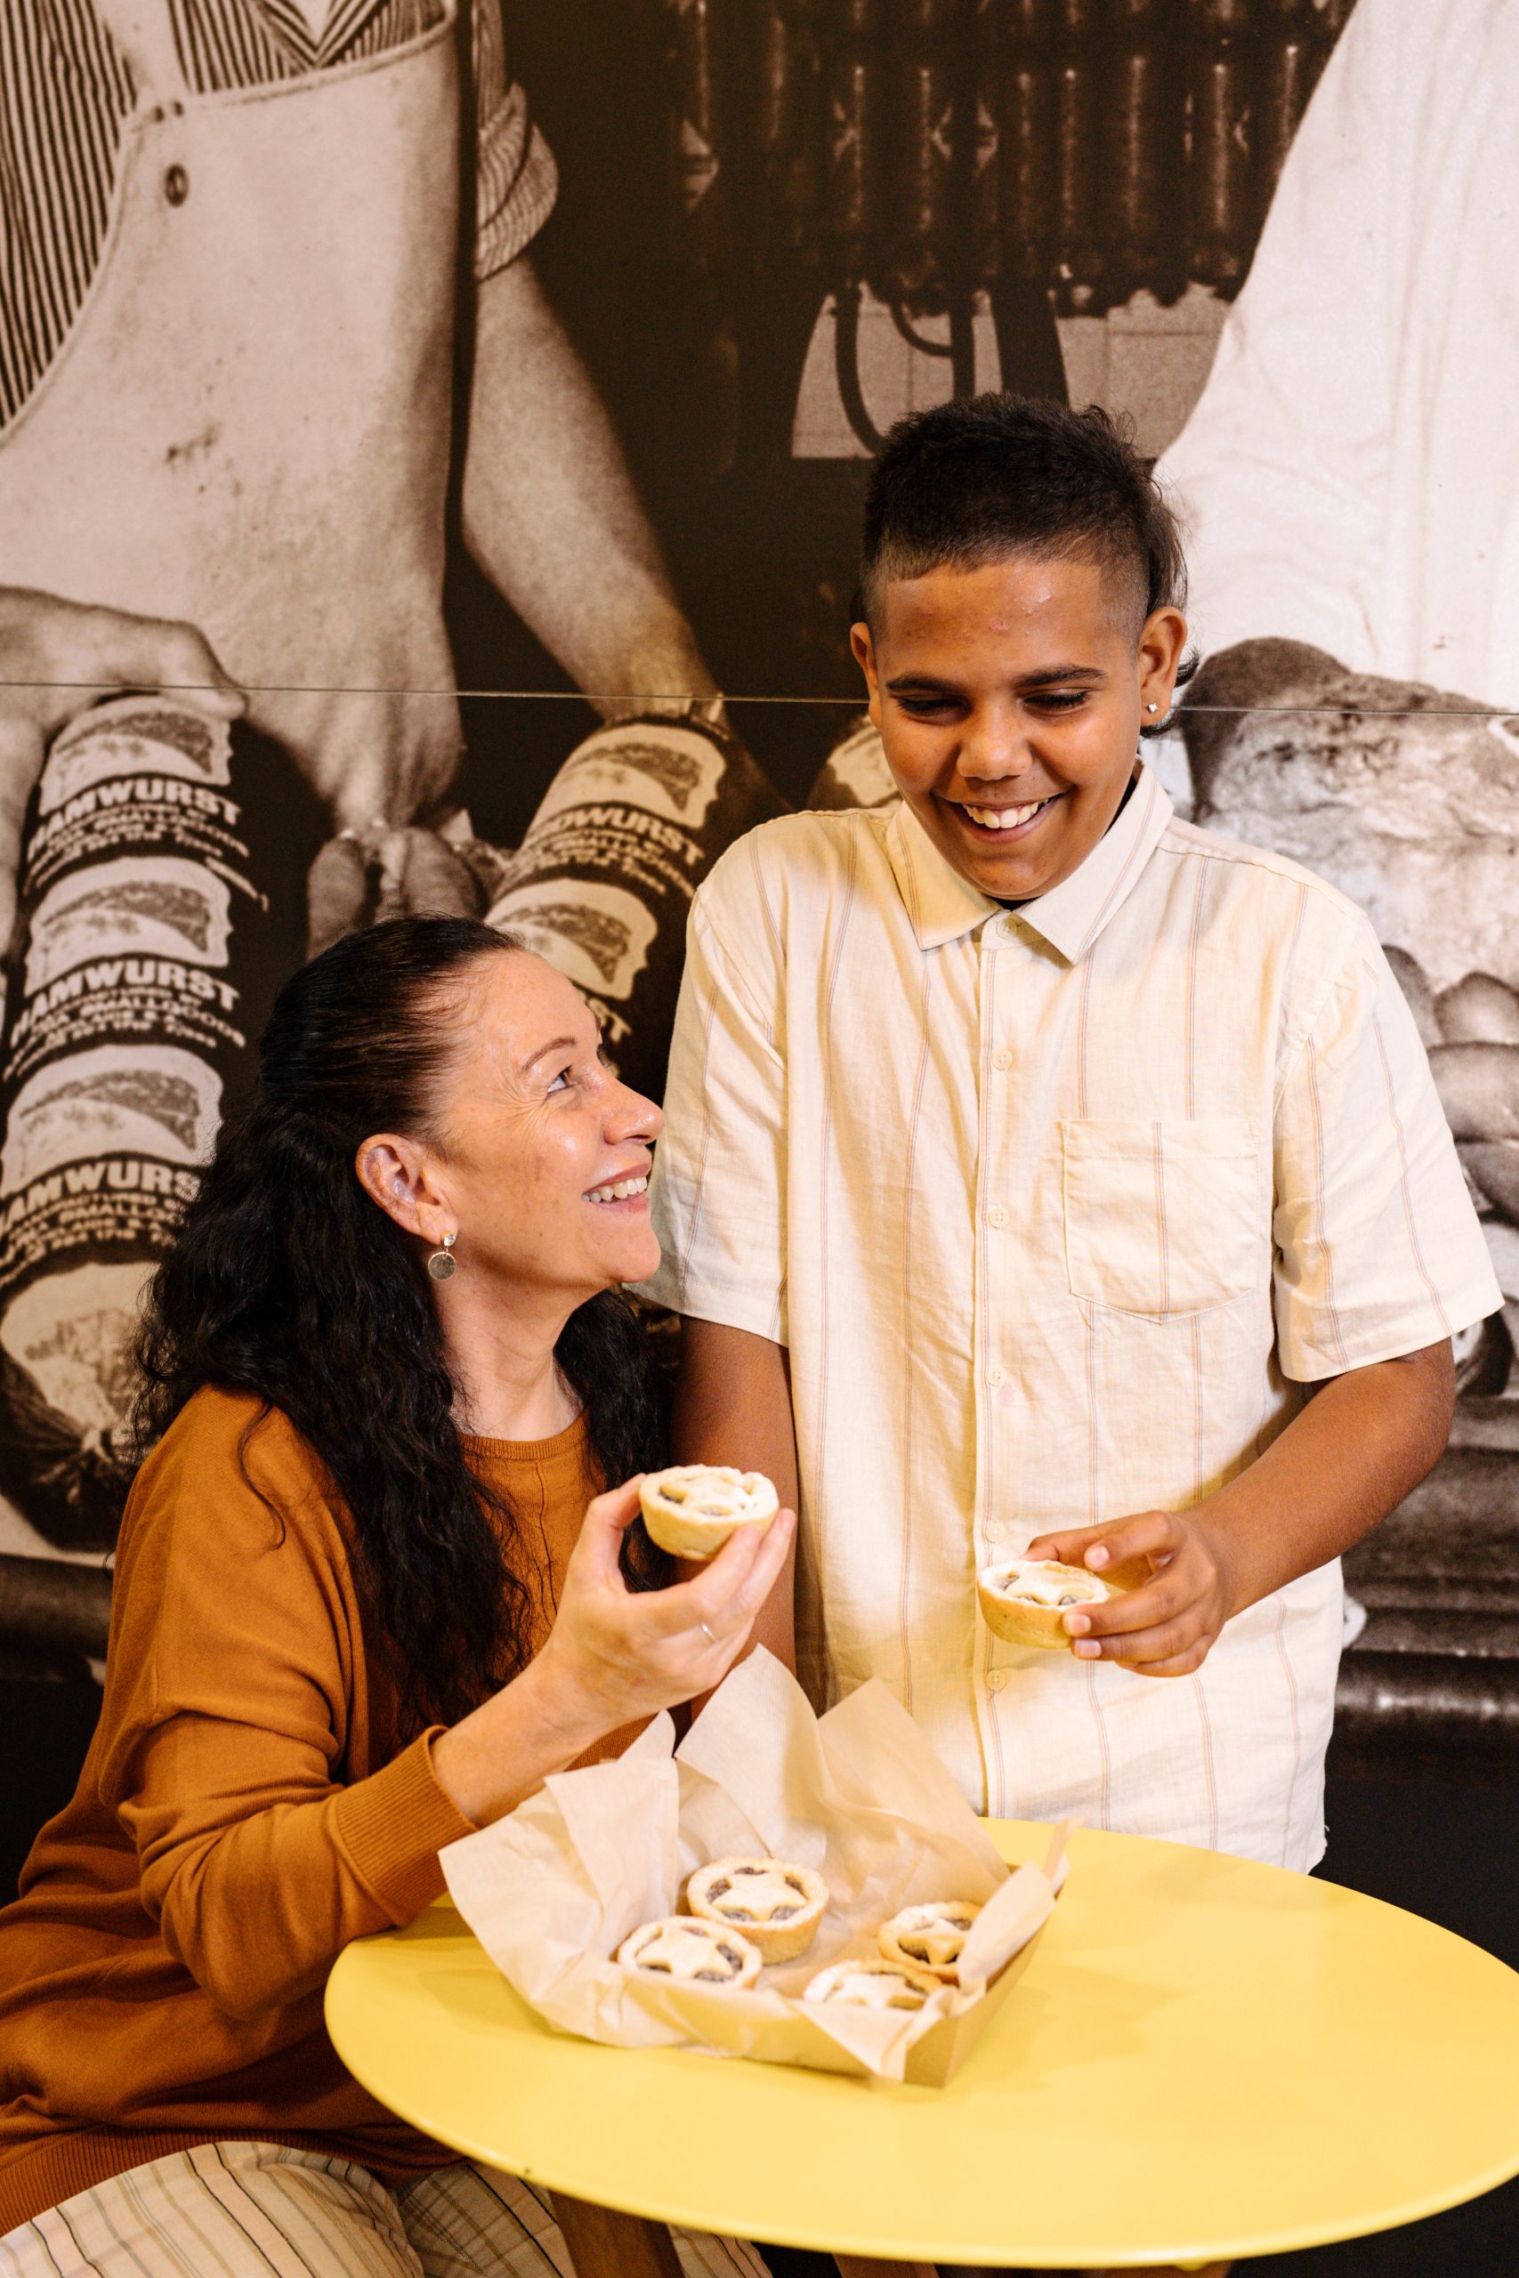
[[[597,1492],[658,1458],[617,1294],[658,1128],[483,925],[280,993],[148,1294],[100,1729],[0,1916],[0,2271],[563,2260],[362,2093],[321,1986],[440,1845],[715,1686],[783,1570],[790,1513],[651,1590],[638,1485]]]

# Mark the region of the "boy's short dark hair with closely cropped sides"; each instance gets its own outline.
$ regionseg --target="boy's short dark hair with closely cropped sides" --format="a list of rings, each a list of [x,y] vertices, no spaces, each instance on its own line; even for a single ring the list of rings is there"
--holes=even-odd
[[[1132,592],[1134,629],[1155,608],[1187,604],[1182,538],[1125,419],[1013,394],[897,419],[865,494],[868,622],[879,624],[893,579],[1009,554],[1111,567]]]

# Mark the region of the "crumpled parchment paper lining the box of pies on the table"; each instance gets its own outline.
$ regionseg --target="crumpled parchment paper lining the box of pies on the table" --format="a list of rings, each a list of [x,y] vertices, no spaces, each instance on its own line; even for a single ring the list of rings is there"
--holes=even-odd
[[[767,1854],[815,1868],[829,1911],[797,1961],[752,1991],[624,1970],[631,1929],[676,1914],[708,1859]],[[947,1770],[881,1683],[815,1718],[765,1652],[717,1688],[674,1752],[656,1722],[613,1763],[558,1772],[526,1804],[442,1852],[458,1911],[517,1993],[560,2032],[617,2048],[701,2048],[902,2080],[909,2050],[963,2016],[1045,1923],[1061,1882],[1002,1863]],[[804,2002],[829,1961],[877,1955],[877,1927],[931,1898],[982,1904],[966,1986],[922,2009]]]

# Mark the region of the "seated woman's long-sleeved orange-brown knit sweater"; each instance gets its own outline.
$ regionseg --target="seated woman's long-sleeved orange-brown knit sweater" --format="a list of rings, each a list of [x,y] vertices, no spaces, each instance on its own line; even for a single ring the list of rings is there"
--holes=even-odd
[[[392,2182],[451,2157],[344,2071],[321,1989],[348,1939],[442,1893],[437,1850],[469,1820],[435,1734],[396,1745],[342,1506],[287,1417],[257,1417],[196,1394],[132,1485],[100,1727],[0,1914],[0,2235],[214,2139]],[[239,1472],[251,1424],[273,1510]],[[547,1633],[599,1485],[585,1421],[469,1451],[537,1549]]]

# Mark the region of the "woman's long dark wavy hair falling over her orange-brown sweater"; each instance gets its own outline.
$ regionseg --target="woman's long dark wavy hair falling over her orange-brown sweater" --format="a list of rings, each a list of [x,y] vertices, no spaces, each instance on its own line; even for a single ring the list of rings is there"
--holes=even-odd
[[[519,943],[467,918],[348,934],[276,998],[257,1087],[148,1287],[134,1453],[203,1385],[282,1410],[351,1517],[360,1599],[405,1729],[453,1722],[531,1656],[540,1576],[471,1469],[419,1248],[358,1182],[380,1130],[437,1146],[460,984]],[[578,1308],[556,1346],[608,1483],[663,1460],[649,1339],[626,1298]],[[244,1440],[246,1451],[246,1440]],[[633,1585],[667,1579],[633,1531]]]

